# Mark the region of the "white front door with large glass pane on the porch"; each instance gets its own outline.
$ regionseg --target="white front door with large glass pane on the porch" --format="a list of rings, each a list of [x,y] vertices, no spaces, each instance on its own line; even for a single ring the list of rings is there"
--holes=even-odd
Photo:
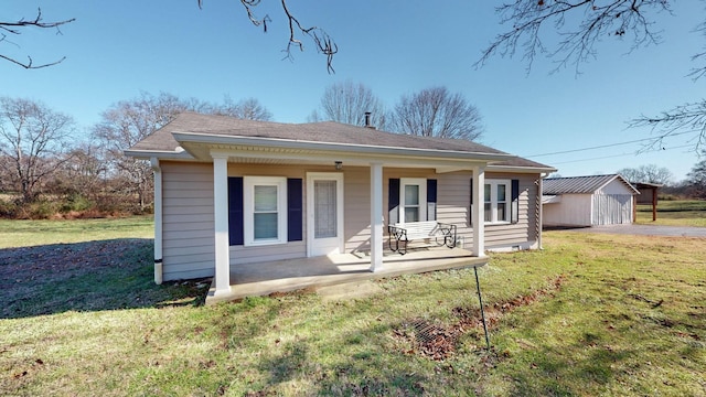
[[[343,174],[307,173],[307,255],[343,253]]]

